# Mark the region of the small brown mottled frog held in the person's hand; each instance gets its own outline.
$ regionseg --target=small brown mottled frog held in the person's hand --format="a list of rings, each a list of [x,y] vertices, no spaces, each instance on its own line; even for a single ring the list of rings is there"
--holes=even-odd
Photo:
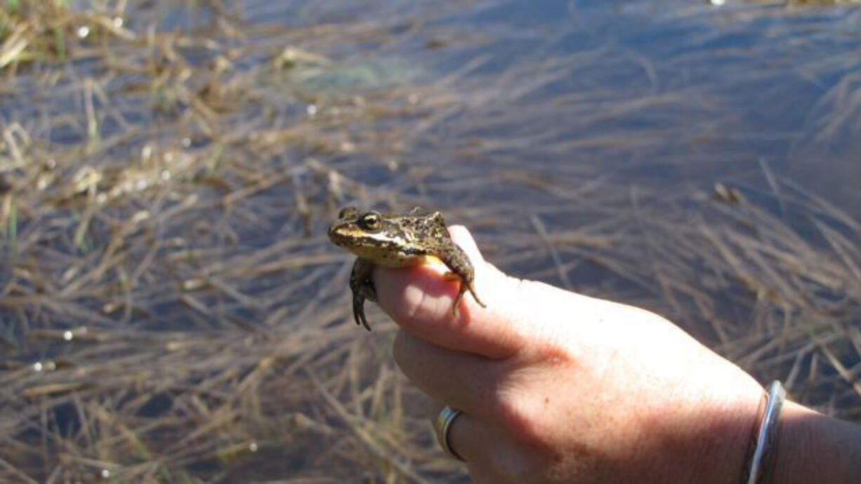
[[[486,308],[475,292],[473,264],[467,253],[451,240],[439,211],[415,207],[407,213],[384,214],[347,206],[329,226],[328,236],[338,247],[357,255],[350,272],[353,318],[368,331],[371,328],[365,317],[364,303],[377,300],[372,278],[375,266],[411,267],[441,261],[449,269],[443,278],[460,281],[451,307],[452,317],[457,316],[467,291],[476,303]]]

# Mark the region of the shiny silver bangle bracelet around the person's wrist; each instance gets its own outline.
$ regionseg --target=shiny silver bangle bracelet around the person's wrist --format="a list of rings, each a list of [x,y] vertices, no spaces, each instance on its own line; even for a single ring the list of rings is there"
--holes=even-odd
[[[765,469],[770,467],[769,464],[774,459],[777,451],[777,419],[780,417],[780,409],[784,407],[785,397],[786,390],[779,380],[771,382],[763,394],[765,406],[760,402],[757,416],[759,420],[754,434],[756,440],[752,440],[750,445],[753,453],[748,450],[742,484],[759,484],[765,475]]]

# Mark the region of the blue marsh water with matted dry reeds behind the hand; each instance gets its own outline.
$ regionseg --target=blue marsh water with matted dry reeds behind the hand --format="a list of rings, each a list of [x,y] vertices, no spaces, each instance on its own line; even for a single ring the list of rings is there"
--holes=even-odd
[[[347,203],[861,421],[858,11],[64,4],[0,14],[0,480],[466,481]]]

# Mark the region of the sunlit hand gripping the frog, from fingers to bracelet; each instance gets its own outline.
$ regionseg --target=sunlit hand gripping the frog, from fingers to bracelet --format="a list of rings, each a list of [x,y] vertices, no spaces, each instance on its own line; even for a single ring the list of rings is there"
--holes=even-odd
[[[736,482],[762,388],[666,319],[486,263],[450,230],[487,304],[436,267],[376,268],[394,357],[463,413],[449,444],[477,482]]]

